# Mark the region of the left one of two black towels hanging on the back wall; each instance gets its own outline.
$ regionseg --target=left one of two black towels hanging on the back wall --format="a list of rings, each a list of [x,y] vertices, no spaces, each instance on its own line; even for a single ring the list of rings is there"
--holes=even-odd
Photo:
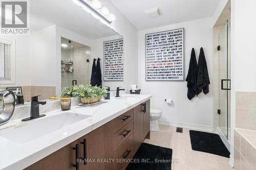
[[[195,54],[194,48],[192,48],[190,61],[189,61],[189,68],[187,72],[187,98],[189,100],[193,99],[195,95],[197,95],[197,58]]]

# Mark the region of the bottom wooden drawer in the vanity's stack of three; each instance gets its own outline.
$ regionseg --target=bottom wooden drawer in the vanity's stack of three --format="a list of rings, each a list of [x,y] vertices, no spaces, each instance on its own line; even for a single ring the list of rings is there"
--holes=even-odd
[[[129,164],[127,160],[132,159],[133,155],[133,134],[131,134],[115,151],[115,169],[124,169]]]

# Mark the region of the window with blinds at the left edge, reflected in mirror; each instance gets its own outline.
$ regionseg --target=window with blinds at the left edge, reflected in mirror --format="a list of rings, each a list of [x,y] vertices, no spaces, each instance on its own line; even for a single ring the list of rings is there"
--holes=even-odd
[[[0,39],[0,84],[15,83],[15,41]]]

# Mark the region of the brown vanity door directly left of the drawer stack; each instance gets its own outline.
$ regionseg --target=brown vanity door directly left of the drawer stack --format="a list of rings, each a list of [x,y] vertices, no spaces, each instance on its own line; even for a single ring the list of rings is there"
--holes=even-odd
[[[114,169],[114,162],[111,162],[111,159],[114,159],[114,135],[112,131],[113,121],[77,140],[80,144],[79,157],[82,158],[81,160],[88,160],[86,164],[80,162],[79,169]]]

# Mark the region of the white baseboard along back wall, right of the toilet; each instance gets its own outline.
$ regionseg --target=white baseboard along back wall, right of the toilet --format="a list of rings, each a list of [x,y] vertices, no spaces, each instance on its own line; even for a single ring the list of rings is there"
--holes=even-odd
[[[181,127],[181,128],[194,129],[194,130],[200,130],[200,131],[207,131],[207,132],[212,132],[213,131],[212,127],[208,127],[208,126],[178,123],[178,122],[170,122],[168,120],[163,120],[163,119],[159,119],[159,124]]]

